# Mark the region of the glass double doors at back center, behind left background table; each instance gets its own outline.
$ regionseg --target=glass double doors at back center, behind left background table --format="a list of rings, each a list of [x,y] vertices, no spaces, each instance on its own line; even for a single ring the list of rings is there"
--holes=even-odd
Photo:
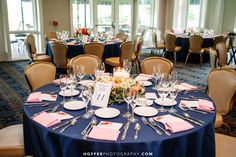
[[[132,0],[96,0],[95,28],[97,32],[106,32],[115,36],[125,32],[132,37]]]

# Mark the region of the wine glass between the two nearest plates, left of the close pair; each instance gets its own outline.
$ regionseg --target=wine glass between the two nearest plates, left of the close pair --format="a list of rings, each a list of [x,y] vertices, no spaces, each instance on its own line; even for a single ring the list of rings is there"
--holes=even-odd
[[[125,87],[123,88],[123,99],[127,103],[127,112],[123,114],[123,117],[125,118],[130,118],[131,114],[129,112],[129,104],[133,101],[134,99],[134,94],[133,94],[133,89],[131,87]]]

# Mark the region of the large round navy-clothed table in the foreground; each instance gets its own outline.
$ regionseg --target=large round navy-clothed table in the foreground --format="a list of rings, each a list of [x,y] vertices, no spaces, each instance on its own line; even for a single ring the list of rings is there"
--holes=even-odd
[[[58,91],[59,87],[48,84],[37,91]],[[151,87],[146,88],[148,92],[152,91]],[[193,96],[210,98],[204,93],[190,92]],[[187,96],[185,94],[184,96]],[[183,95],[181,95],[183,96]],[[81,100],[79,96],[74,98]],[[70,98],[68,98],[70,99]],[[165,134],[158,135],[150,127],[144,125],[141,117],[138,122],[141,125],[139,137],[134,140],[134,123],[130,124],[127,132],[126,140],[121,141],[121,135],[127,119],[121,114],[126,111],[126,104],[112,104],[120,110],[121,114],[112,119],[98,118],[100,121],[110,121],[123,123],[120,134],[116,142],[102,141],[82,138],[81,132],[88,125],[91,119],[80,118],[75,126],[69,127],[63,133],[60,129],[53,131],[52,127],[45,128],[33,121],[30,117],[39,111],[51,108],[62,100],[58,96],[56,102],[52,102],[48,107],[23,107],[23,127],[24,127],[24,147],[26,155],[34,155],[35,157],[80,157],[80,156],[153,156],[153,157],[215,157],[215,138],[214,138],[214,120],[215,112],[206,115],[187,111],[191,116],[201,119],[205,122],[203,126],[195,124],[194,128],[188,131],[173,133],[171,136]],[[176,99],[179,103],[180,99]],[[155,108],[160,106],[152,105]],[[168,108],[168,107],[166,107]],[[175,105],[178,114],[182,114],[177,105]],[[61,105],[57,111],[64,111],[73,116],[82,115],[85,109],[78,111],[69,111]],[[167,114],[158,113],[157,116]],[[63,121],[62,121],[63,122]],[[162,125],[162,124],[161,124]],[[162,125],[163,126],[163,125]],[[96,154],[97,153],[97,154]]]

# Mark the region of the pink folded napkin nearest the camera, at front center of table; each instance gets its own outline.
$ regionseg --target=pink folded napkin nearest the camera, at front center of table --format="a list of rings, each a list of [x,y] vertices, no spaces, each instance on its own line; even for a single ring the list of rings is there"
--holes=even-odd
[[[119,130],[94,126],[88,137],[97,140],[117,141],[119,134]]]

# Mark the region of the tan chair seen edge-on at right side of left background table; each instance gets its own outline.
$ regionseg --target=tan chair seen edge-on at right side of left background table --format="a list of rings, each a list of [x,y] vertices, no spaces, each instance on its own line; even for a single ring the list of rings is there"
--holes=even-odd
[[[135,44],[134,44],[134,51],[132,54],[132,58],[131,58],[131,62],[132,64],[137,64],[137,69],[141,69],[141,63],[139,60],[140,57],[140,53],[142,50],[142,46],[143,46],[143,37],[142,36],[137,36],[136,40],[135,40]],[[136,72],[138,72],[138,70],[136,69]]]

